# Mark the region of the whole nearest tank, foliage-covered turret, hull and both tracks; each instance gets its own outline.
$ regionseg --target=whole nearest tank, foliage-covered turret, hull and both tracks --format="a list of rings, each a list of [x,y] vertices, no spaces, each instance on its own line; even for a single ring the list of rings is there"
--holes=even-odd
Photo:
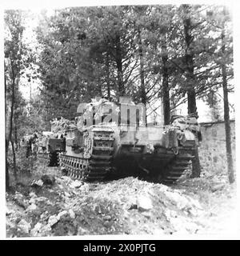
[[[201,140],[196,115],[175,115],[168,126],[147,124],[145,107],[130,97],[96,98],[77,112],[59,154],[62,172],[72,178],[144,176],[174,183],[189,169]]]

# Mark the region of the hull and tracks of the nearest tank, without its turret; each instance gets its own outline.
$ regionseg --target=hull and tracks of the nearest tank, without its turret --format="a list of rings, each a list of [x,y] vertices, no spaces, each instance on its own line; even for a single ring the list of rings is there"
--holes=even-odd
[[[60,166],[73,178],[144,176],[158,182],[175,182],[189,168],[194,154],[194,134],[163,127],[91,126],[66,137]],[[70,143],[72,142],[72,144]]]

